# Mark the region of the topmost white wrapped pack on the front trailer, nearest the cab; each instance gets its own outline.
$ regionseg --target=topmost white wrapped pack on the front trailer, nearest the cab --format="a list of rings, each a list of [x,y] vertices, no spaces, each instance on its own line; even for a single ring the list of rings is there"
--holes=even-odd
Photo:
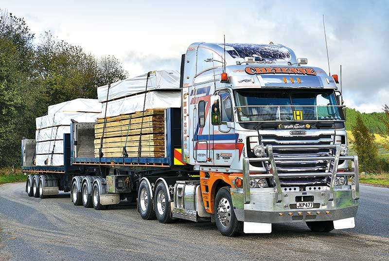
[[[180,90],[178,71],[154,71],[148,78],[147,91]],[[99,102],[109,101],[135,93],[142,93],[146,88],[147,74],[124,79],[111,84],[107,99],[108,85],[97,88]],[[104,112],[104,109],[102,110]],[[139,109],[138,109],[139,111]]]

